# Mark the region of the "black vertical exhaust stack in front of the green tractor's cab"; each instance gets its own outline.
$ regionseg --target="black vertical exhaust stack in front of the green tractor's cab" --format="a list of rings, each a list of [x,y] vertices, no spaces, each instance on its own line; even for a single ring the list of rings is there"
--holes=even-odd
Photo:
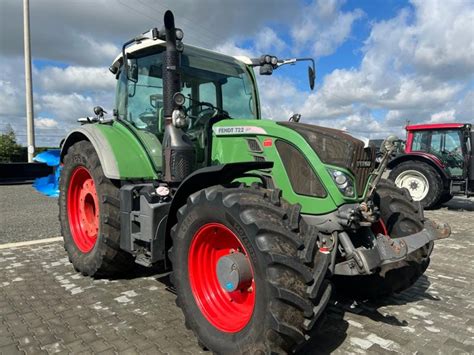
[[[194,169],[195,150],[187,134],[173,125],[173,112],[181,107],[175,103],[174,95],[181,91],[179,76],[179,51],[176,48],[176,28],[174,15],[166,11],[165,17],[166,51],[163,57],[163,113],[165,134],[163,137],[163,180],[180,183]]]

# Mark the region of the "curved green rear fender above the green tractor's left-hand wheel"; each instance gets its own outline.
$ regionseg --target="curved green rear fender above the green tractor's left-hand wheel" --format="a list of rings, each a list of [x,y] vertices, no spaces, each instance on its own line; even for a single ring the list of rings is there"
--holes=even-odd
[[[94,146],[107,178],[118,180],[158,178],[145,148],[120,122],[85,124],[70,132],[61,149],[61,163],[69,147],[82,140],[87,140]]]

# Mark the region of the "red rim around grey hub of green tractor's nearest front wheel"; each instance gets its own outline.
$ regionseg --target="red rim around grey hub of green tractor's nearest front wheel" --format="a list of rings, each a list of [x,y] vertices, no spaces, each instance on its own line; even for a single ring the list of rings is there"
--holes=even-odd
[[[191,290],[204,317],[217,329],[227,333],[242,330],[252,318],[255,307],[255,279],[248,289],[227,292],[217,278],[220,257],[239,251],[248,253],[237,236],[220,223],[208,223],[194,235],[188,254]],[[252,276],[254,275],[252,269]]]

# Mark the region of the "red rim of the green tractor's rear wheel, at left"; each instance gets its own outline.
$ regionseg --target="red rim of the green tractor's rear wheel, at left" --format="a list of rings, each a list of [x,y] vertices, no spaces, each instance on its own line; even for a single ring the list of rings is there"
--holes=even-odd
[[[99,232],[99,204],[94,179],[79,166],[72,172],[67,192],[69,228],[80,251],[88,253],[94,247]]]

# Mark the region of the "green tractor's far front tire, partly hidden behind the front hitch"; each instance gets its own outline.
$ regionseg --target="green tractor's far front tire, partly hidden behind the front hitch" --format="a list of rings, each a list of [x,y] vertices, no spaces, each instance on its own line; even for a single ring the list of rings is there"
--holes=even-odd
[[[423,229],[423,209],[411,199],[406,189],[382,179],[377,185],[374,203],[380,208],[391,238],[404,237]],[[409,258],[385,275],[336,276],[333,278],[339,296],[355,299],[380,299],[399,293],[412,286],[423,275],[430,263],[433,242],[410,254]]]

